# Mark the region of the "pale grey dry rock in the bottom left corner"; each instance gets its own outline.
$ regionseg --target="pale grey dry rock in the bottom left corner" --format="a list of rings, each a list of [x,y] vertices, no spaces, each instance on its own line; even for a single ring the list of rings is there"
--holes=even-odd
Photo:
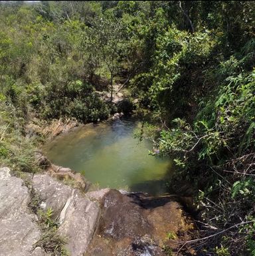
[[[45,256],[34,245],[41,237],[36,215],[29,211],[29,190],[12,177],[9,168],[0,168],[0,256]]]

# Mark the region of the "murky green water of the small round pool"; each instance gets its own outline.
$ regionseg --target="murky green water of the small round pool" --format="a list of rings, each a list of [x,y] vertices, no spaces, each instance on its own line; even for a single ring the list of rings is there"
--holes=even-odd
[[[165,193],[172,163],[149,156],[151,142],[133,138],[139,124],[134,118],[124,118],[80,126],[56,137],[44,151],[54,164],[82,172],[100,188]]]

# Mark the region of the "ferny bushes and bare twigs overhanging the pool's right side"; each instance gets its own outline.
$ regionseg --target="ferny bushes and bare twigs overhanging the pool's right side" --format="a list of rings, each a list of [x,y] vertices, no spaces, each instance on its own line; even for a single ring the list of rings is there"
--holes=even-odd
[[[161,128],[145,124],[143,132],[155,142],[157,156],[174,158],[177,170],[169,188],[186,181],[197,190],[201,238],[190,244],[201,255],[253,256],[255,71],[238,73],[244,58],[236,61],[232,72],[229,64],[214,70],[211,78],[220,86],[201,99],[193,122],[175,118],[161,122]],[[222,66],[232,76],[223,75]]]

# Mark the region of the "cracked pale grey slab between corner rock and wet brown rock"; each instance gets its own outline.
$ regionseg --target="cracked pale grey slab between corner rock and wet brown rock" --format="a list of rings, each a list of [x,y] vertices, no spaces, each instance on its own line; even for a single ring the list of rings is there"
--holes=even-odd
[[[70,255],[82,256],[98,225],[99,204],[47,174],[35,175],[33,188],[41,196],[44,209],[53,209],[60,223],[58,233],[66,238]]]

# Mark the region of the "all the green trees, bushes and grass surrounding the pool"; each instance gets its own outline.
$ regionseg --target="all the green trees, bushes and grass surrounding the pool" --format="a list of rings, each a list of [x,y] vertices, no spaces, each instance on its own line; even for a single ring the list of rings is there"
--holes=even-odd
[[[171,188],[195,190],[201,237],[189,243],[201,255],[255,255],[254,10],[253,1],[1,1],[1,165],[35,172],[38,138],[26,125],[106,119],[123,84],[150,111],[143,136],[175,159]]]

